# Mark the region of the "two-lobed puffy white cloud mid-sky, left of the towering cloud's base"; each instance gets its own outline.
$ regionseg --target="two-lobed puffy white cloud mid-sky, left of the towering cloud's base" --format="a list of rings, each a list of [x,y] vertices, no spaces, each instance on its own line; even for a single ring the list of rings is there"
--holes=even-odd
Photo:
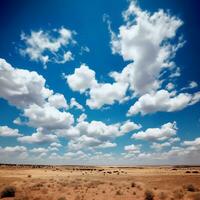
[[[104,105],[112,105],[124,100],[128,88],[127,83],[98,83],[95,71],[86,65],[76,68],[74,73],[66,76],[67,83],[73,91],[88,91],[90,98],[86,104],[91,109],[99,109]]]

